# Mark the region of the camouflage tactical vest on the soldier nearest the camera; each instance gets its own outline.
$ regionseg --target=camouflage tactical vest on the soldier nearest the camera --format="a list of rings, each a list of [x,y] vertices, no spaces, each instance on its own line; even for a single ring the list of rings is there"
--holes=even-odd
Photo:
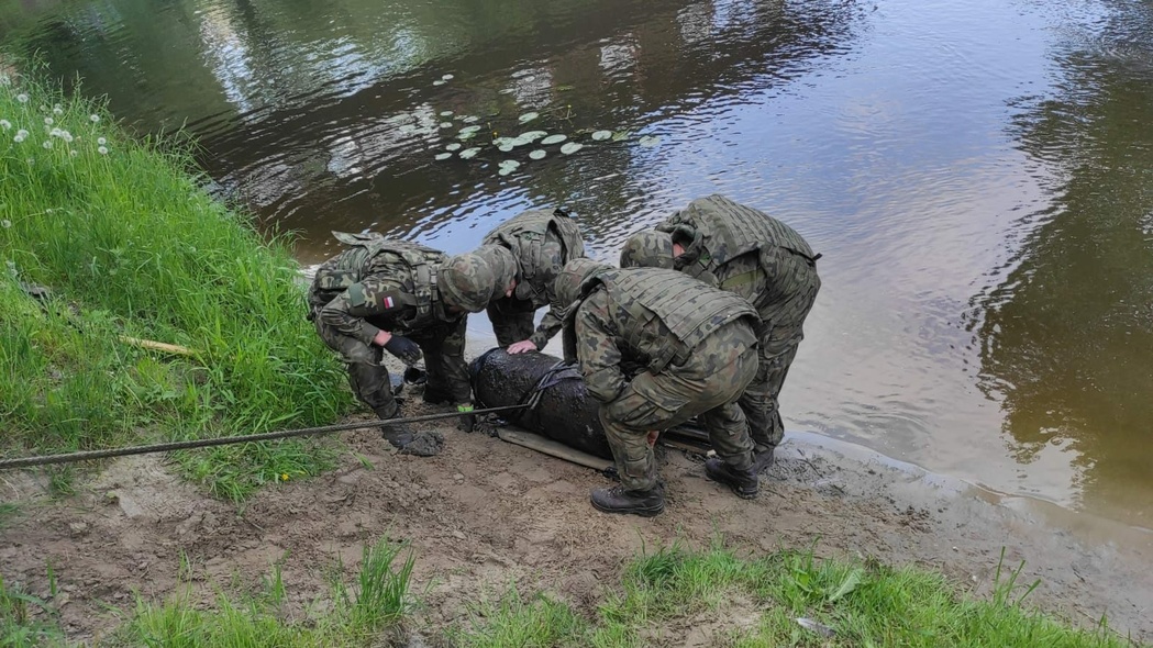
[[[619,326],[618,334],[650,359],[651,371],[664,369],[680,351],[668,340],[643,334],[654,315],[689,351],[730,322],[741,318],[754,325],[759,322],[756,311],[744,299],[675,270],[617,270],[598,274],[589,282],[603,284],[618,308],[628,314],[632,325]]]

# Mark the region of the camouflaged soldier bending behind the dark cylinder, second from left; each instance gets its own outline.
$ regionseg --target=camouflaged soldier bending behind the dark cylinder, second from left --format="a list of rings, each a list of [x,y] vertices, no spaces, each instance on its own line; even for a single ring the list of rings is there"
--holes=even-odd
[[[508,347],[508,353],[544,348],[560,331],[560,318],[550,307],[534,330],[533,314],[552,303],[552,284],[560,269],[585,256],[576,223],[562,209],[526,211],[498,225],[481,243],[500,246],[517,257],[515,291],[488,308],[497,344]]]

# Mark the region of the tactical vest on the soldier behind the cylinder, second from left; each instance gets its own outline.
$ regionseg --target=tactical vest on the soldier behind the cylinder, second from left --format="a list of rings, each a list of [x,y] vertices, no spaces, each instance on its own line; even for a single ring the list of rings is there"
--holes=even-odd
[[[585,242],[580,229],[568,212],[532,210],[519,213],[497,225],[484,235],[481,244],[498,244],[507,248],[517,257],[518,282],[532,284],[536,272],[544,266],[543,247],[549,231],[556,232],[565,249],[562,265],[585,256]]]

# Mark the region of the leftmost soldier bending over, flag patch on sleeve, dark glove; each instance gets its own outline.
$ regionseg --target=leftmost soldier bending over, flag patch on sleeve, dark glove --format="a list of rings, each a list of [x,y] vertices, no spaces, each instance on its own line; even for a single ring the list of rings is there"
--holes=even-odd
[[[316,271],[308,293],[309,318],[321,339],[342,356],[356,397],[382,420],[399,416],[382,352],[409,367],[423,352],[424,399],[470,412],[467,314],[511,292],[512,255],[497,249],[450,258],[376,233],[333,234],[351,248]],[[470,427],[470,416],[462,421]],[[384,438],[401,453],[419,455],[436,454],[443,443],[435,432],[413,434],[399,424],[384,428]]]

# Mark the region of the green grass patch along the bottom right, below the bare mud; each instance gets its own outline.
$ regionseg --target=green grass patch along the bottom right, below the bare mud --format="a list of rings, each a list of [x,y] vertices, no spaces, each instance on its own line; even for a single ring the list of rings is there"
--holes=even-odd
[[[704,628],[710,646],[1123,648],[1108,630],[1070,627],[1024,604],[1038,583],[998,570],[994,594],[963,593],[941,574],[872,560],[817,559],[812,551],[739,558],[719,545],[642,555],[619,588],[582,617],[545,595],[515,589],[474,610],[451,634],[462,647],[640,648]],[[809,627],[797,619],[805,619]],[[812,621],[812,623],[809,623]]]

